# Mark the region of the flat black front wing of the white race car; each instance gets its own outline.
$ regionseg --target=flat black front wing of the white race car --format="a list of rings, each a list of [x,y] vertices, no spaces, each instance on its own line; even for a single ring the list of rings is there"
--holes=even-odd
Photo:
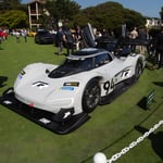
[[[53,118],[55,114],[32,108],[15,99],[13,88],[9,88],[2,97],[0,97],[0,104],[60,135],[65,135],[77,129],[90,118],[87,113],[83,112],[72,116],[66,122],[57,122]]]

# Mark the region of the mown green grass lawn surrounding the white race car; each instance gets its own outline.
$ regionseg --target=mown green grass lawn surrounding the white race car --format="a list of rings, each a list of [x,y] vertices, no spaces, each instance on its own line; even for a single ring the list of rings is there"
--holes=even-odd
[[[16,75],[25,65],[34,62],[59,64],[64,59],[64,55],[54,54],[55,47],[36,45],[34,38],[28,38],[28,42],[22,39],[17,43],[10,36],[2,48],[0,77],[8,80],[1,85],[0,93],[13,86]],[[92,156],[98,151],[110,159],[141,136],[134,128],[136,125],[149,129],[163,120],[163,87],[154,83],[163,84],[163,70],[146,68],[136,85],[111,104],[98,106],[86,124],[68,135],[53,134],[0,105],[0,162],[92,163]],[[152,89],[155,90],[154,103],[150,110],[142,110],[138,102]],[[163,126],[154,134],[162,130]],[[150,139],[143,140],[116,162],[161,163],[152,143]]]

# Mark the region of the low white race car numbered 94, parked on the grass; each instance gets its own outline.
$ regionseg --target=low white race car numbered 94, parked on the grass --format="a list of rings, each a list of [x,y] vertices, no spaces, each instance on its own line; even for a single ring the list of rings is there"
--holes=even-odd
[[[88,113],[98,104],[110,102],[122,87],[137,80],[145,65],[142,54],[121,51],[113,55],[103,49],[85,48],[68,55],[59,66],[27,65],[18,74],[12,92],[10,89],[4,93],[2,103],[12,108],[16,103],[20,109],[15,110],[21,114],[29,114],[50,129],[66,134],[88,120]]]

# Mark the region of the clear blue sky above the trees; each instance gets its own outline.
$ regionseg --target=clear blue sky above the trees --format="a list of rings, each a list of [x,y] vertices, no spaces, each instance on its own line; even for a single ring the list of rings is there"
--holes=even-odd
[[[33,0],[22,0],[23,3],[32,2]],[[95,7],[109,0],[73,0],[77,2],[83,9]],[[163,0],[111,0],[121,3],[124,8],[135,10],[143,16],[160,17],[159,12],[163,7]]]

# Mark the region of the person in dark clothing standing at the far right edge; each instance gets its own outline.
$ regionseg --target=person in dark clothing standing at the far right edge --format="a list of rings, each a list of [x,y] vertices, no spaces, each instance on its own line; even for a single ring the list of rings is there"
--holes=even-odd
[[[161,33],[159,33],[155,38],[155,57],[153,68],[159,70],[161,68],[162,64],[163,64],[163,27],[161,28]]]

